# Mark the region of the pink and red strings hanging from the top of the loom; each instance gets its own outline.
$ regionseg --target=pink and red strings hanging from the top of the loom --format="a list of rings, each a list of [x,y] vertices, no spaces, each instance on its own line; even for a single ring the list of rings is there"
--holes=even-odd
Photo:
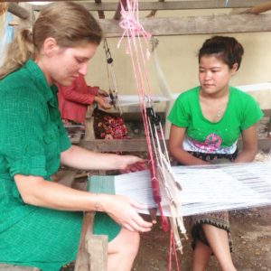
[[[164,218],[163,210],[161,207],[161,195],[159,192],[159,182],[155,173],[154,154],[153,154],[153,149],[151,145],[151,135],[150,135],[150,128],[148,125],[148,117],[147,117],[147,110],[146,110],[146,103],[148,104],[149,107],[152,106],[152,103],[151,103],[152,93],[151,93],[151,88],[150,88],[150,84],[149,84],[149,80],[147,76],[145,53],[143,51],[143,45],[141,42],[141,37],[142,37],[145,41],[146,57],[149,58],[150,51],[149,51],[148,44],[152,35],[150,33],[147,33],[145,29],[143,28],[143,26],[139,23],[137,1],[134,1],[133,3],[130,3],[129,1],[127,1],[126,5],[127,5],[127,10],[125,10],[124,6],[121,4],[120,13],[122,14],[123,19],[119,24],[124,29],[124,33],[120,41],[118,42],[117,47],[119,48],[120,43],[122,42],[123,38],[126,37],[127,38],[126,52],[129,53],[131,56],[136,89],[139,93],[139,106],[141,109],[143,124],[145,128],[146,143],[147,143],[147,149],[148,149],[148,154],[149,154],[151,182],[152,182],[153,192],[154,192],[154,201],[157,203],[158,208],[161,212],[162,228],[166,231],[168,230],[168,223],[167,223],[167,220]],[[145,75],[145,79],[144,79],[144,75]],[[146,87],[147,93],[145,92],[144,81],[146,82],[146,85],[147,85]]]

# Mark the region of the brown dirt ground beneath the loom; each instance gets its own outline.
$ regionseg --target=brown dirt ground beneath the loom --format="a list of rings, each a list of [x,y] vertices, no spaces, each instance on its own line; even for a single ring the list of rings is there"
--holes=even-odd
[[[271,207],[229,212],[233,238],[232,258],[238,271],[271,270]],[[189,218],[184,220],[189,231]],[[183,254],[179,254],[182,271],[191,270],[192,248],[190,239],[182,240]],[[155,226],[142,235],[133,271],[167,271],[169,234]],[[174,263],[172,270],[176,270]],[[208,271],[220,270],[214,257]]]

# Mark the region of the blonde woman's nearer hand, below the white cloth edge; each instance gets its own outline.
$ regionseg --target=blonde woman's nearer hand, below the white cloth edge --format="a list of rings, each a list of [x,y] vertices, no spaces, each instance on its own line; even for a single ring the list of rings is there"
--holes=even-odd
[[[98,194],[98,204],[120,226],[130,231],[146,232],[152,229],[153,223],[147,222],[136,209],[147,209],[144,204],[125,196]],[[103,199],[103,200],[101,200]]]

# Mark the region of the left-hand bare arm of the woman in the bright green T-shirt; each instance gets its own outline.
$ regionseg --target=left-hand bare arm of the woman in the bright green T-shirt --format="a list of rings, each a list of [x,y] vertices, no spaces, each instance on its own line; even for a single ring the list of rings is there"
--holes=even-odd
[[[171,126],[168,148],[170,154],[181,164],[208,164],[199,158],[194,157],[182,148],[182,142],[185,136],[185,128]]]

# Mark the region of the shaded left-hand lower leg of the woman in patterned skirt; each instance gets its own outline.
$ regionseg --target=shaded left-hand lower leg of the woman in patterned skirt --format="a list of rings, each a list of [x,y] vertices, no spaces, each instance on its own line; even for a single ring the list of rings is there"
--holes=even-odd
[[[192,271],[204,271],[209,263],[210,255],[210,247],[197,240],[193,251]]]

